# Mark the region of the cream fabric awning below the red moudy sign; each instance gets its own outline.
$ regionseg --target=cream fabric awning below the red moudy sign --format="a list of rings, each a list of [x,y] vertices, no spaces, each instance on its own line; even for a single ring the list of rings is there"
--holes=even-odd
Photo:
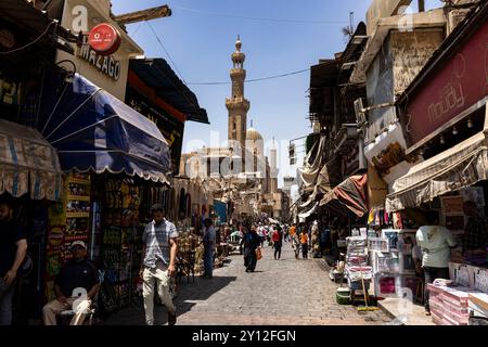
[[[488,179],[488,147],[483,132],[412,167],[393,185],[386,210],[420,206],[434,197]]]

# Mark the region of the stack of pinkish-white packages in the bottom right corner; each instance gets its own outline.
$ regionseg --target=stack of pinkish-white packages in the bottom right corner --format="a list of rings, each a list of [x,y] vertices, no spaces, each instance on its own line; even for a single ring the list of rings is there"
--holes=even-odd
[[[428,284],[431,313],[438,325],[467,325],[470,294],[479,293],[464,286]]]

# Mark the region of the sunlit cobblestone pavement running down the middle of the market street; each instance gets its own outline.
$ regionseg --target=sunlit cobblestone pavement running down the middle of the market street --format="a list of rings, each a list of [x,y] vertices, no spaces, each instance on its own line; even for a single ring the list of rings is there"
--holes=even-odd
[[[214,279],[181,281],[175,299],[178,325],[378,325],[390,321],[382,311],[358,312],[335,303],[336,284],[322,259],[295,259],[284,243],[281,260],[271,247],[254,273],[246,273],[241,255],[232,255]],[[155,309],[156,323],[166,324],[167,311]],[[105,324],[144,323],[143,307],[125,309]]]

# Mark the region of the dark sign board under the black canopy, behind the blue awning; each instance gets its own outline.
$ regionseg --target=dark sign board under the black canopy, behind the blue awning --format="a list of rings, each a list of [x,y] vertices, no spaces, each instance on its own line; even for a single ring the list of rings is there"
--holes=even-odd
[[[184,123],[154,105],[134,88],[128,87],[126,93],[127,104],[153,121],[168,142],[171,151],[171,167],[177,174],[180,168],[181,149],[183,146]]]

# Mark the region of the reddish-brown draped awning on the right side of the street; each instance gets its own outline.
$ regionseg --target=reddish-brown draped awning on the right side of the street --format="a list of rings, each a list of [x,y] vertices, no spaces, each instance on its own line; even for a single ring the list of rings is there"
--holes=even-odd
[[[328,204],[342,205],[350,209],[356,216],[362,217],[368,211],[365,185],[368,175],[351,176],[332,191],[324,195],[320,201],[320,206]]]

